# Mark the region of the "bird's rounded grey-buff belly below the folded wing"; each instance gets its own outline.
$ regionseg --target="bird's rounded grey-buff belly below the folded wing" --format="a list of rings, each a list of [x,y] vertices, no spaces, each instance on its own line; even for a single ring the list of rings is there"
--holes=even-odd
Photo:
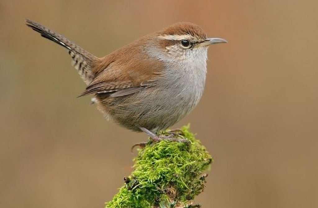
[[[134,131],[158,131],[172,126],[198,103],[202,93],[184,88],[146,88],[132,95],[97,95],[99,109],[116,123]]]

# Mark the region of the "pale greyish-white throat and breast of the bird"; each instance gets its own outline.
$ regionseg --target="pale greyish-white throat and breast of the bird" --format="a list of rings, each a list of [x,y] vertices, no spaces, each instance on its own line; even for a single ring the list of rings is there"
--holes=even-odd
[[[174,106],[171,113],[178,114],[179,119],[198,104],[204,90],[207,48],[191,52],[187,59],[166,59],[165,77],[158,83],[164,89],[159,96],[165,99],[167,106]]]

